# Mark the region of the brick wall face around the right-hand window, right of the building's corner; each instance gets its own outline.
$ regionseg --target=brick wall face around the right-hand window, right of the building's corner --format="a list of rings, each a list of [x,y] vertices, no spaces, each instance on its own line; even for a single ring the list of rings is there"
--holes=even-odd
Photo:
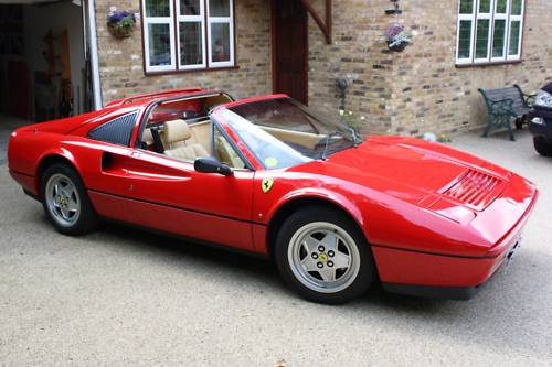
[[[519,84],[534,91],[552,76],[552,17],[549,0],[526,0],[522,62],[511,65],[455,66],[457,0],[401,1],[400,21],[418,34],[414,45],[394,55],[393,131],[456,133],[487,121],[478,88]]]

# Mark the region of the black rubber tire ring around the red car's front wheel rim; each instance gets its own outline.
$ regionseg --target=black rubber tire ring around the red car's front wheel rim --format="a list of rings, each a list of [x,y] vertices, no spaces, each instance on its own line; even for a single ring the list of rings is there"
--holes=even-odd
[[[294,235],[302,230],[301,228],[305,228],[305,226],[317,223],[328,223],[343,229],[353,239],[353,245],[358,249],[360,261],[358,273],[355,277],[350,278],[349,281],[351,283],[347,288],[337,292],[320,292],[305,285],[305,280],[301,282],[300,277],[294,273],[294,265],[289,260],[289,253],[293,252],[293,249],[290,250],[289,247],[294,246],[291,244]],[[308,301],[326,304],[343,304],[363,295],[374,280],[375,266],[372,251],[364,235],[349,217],[326,207],[309,207],[289,216],[277,235],[274,255],[284,281],[289,288]]]

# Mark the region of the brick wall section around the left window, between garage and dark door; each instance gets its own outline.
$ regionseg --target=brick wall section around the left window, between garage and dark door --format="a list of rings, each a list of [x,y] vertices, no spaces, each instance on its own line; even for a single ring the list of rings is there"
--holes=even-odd
[[[97,0],[96,25],[104,104],[139,93],[201,87],[223,89],[243,98],[272,91],[270,7],[265,0],[236,1],[238,69],[146,76],[142,65],[141,25],[131,37],[117,40],[106,26],[109,7],[139,12],[139,0]]]

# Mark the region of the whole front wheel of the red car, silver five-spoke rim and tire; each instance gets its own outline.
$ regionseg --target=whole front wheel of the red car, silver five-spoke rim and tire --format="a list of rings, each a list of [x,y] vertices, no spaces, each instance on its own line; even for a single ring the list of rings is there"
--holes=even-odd
[[[370,247],[355,224],[323,207],[301,209],[282,226],[275,248],[285,282],[309,301],[341,304],[372,284]]]

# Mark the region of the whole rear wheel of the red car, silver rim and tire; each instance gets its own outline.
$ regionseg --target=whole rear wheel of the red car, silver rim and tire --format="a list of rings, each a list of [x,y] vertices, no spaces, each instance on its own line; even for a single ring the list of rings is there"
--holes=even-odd
[[[97,225],[88,195],[78,174],[65,164],[47,168],[41,180],[44,211],[54,227],[64,235],[84,235]]]

